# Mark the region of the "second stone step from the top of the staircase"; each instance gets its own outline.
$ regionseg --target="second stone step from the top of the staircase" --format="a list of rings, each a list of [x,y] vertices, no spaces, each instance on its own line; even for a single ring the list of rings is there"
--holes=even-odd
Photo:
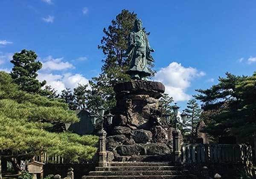
[[[96,167],[96,171],[125,171],[125,170],[182,170],[178,166],[116,166],[116,167]]]

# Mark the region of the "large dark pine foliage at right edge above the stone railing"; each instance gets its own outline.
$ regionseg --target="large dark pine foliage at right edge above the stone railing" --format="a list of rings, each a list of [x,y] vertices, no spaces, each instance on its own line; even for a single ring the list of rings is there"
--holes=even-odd
[[[219,83],[197,90],[207,118],[207,132],[213,136],[236,135],[249,141],[256,131],[256,73],[236,76],[226,73]]]

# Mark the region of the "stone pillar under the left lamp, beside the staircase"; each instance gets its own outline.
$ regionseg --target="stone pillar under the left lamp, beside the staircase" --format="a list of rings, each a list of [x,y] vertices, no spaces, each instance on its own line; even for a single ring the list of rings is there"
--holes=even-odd
[[[108,167],[106,153],[106,131],[104,129],[98,131],[99,136],[99,167]]]

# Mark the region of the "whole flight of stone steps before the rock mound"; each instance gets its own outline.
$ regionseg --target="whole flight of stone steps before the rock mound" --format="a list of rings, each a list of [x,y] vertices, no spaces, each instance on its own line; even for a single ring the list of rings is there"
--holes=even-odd
[[[112,162],[82,179],[191,179],[182,166],[163,162]]]

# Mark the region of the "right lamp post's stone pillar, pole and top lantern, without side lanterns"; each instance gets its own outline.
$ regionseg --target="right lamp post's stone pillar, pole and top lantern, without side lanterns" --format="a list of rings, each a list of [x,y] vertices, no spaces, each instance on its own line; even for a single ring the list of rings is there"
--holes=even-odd
[[[177,106],[177,103],[175,103],[175,106],[172,107],[174,115],[175,115],[175,130],[172,131],[172,137],[173,137],[173,156],[174,156],[174,162],[180,162],[181,159],[181,146],[180,146],[180,139],[181,139],[181,133],[180,130],[177,129],[177,115],[178,115],[178,109],[180,107]]]

